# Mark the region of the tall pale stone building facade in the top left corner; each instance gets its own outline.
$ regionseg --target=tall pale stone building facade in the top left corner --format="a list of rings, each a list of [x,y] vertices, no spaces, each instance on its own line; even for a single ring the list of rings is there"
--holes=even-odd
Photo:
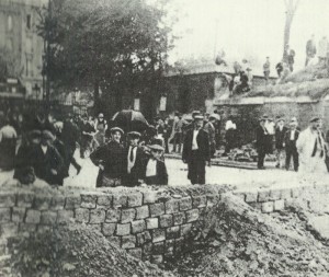
[[[25,88],[25,97],[43,95],[44,42],[36,34],[37,8],[47,0],[0,1],[0,48],[12,54],[16,76]]]

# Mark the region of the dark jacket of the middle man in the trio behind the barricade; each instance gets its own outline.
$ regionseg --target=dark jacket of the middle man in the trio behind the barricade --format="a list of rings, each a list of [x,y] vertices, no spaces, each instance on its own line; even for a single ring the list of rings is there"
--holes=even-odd
[[[128,173],[128,159],[129,159],[129,147],[124,151],[124,178],[123,183],[125,186],[138,185],[138,180],[143,180],[145,176],[145,153],[144,150],[137,147],[135,164]]]

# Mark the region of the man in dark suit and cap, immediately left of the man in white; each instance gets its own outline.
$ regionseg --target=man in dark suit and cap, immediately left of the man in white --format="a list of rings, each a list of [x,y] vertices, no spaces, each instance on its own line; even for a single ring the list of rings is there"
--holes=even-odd
[[[297,122],[294,119],[291,120],[291,129],[285,134],[285,169],[290,170],[291,166],[291,159],[293,157],[294,161],[294,170],[297,172],[299,166],[298,160],[298,151],[296,148],[296,141],[299,137],[299,131],[297,130]]]

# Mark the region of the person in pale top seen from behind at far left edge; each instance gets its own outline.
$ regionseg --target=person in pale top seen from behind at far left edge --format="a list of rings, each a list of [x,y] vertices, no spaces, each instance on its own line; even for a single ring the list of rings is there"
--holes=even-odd
[[[0,169],[10,171],[14,168],[18,134],[10,125],[9,118],[0,129]]]

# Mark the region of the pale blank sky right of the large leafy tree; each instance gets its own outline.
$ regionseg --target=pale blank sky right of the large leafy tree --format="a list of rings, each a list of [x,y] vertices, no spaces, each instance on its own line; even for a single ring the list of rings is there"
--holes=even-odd
[[[230,62],[252,60],[261,72],[270,56],[272,72],[282,58],[285,24],[284,0],[172,0],[179,10],[173,33],[181,38],[170,53],[172,64],[181,58],[214,57],[224,49]],[[296,1],[296,0],[294,0]],[[305,45],[329,38],[329,0],[300,0],[291,28],[290,46],[296,51],[295,68],[305,62]],[[215,50],[216,49],[216,50]]]

